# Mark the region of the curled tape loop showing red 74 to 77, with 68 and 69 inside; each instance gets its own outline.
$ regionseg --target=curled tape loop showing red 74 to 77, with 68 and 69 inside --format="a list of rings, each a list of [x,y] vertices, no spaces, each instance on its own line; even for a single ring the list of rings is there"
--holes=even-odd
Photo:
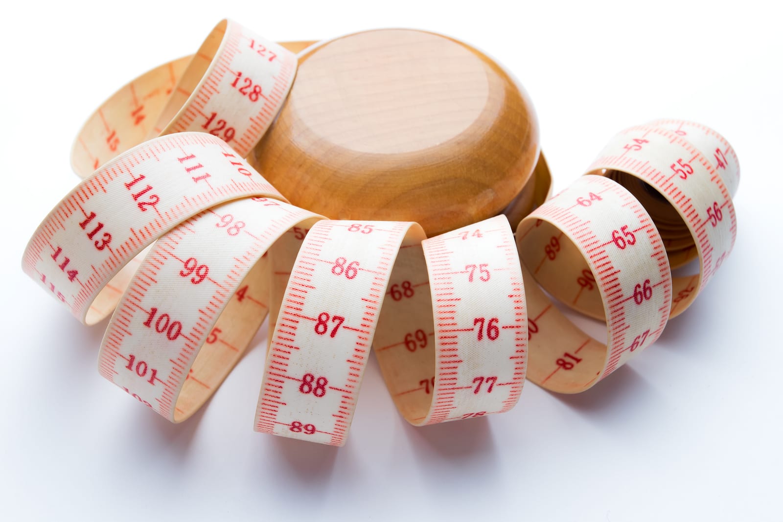
[[[425,272],[413,257],[423,257],[429,293],[421,292],[416,305],[390,295],[384,313],[388,309],[390,319],[399,315],[403,319],[397,323],[407,328],[390,328],[395,322],[384,321],[377,334],[378,362],[395,404],[417,426],[506,412],[525,380],[528,337],[507,219],[456,229],[422,247],[401,253],[416,269],[393,280],[420,281]],[[399,282],[403,297],[405,283]],[[430,332],[432,339],[425,341],[422,333]]]

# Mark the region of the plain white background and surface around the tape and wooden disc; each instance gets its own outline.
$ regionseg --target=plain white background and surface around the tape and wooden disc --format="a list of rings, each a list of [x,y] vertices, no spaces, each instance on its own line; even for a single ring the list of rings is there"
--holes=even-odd
[[[783,40],[772,2],[13,2],[3,13],[0,519],[781,520]],[[734,253],[657,344],[593,390],[528,383],[503,416],[414,429],[374,358],[345,448],[252,431],[265,333],[182,425],[103,380],[87,328],[23,275],[103,99],[222,17],[273,40],[453,35],[514,71],[555,189],[616,131],[709,124],[742,165]]]

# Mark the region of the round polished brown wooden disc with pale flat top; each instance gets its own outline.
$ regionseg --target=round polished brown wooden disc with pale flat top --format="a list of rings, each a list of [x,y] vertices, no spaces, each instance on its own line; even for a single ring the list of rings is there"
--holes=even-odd
[[[500,214],[538,157],[532,103],[502,67],[452,38],[388,29],[305,51],[248,160],[295,205],[433,236]]]

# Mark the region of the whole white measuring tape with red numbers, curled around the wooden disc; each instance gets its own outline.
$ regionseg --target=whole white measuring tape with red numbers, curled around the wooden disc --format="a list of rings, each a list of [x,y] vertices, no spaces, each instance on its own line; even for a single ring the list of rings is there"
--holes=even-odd
[[[237,88],[242,77],[261,81],[258,63],[243,61],[241,76],[226,67],[222,88],[208,89],[215,64],[243,46],[262,68],[276,66],[270,52],[281,62],[293,56],[222,22],[188,67],[178,61],[143,76],[157,85],[145,108],[172,120],[164,129],[134,113],[135,82],[104,104],[128,103],[117,112],[123,131],[100,110],[74,146],[77,171],[150,132],[164,135],[89,175],[23,257],[25,271],[83,322],[119,301],[100,372],[174,422],[210,397],[267,313],[262,432],[345,444],[371,347],[395,405],[417,426],[505,412],[525,376],[583,391],[652,344],[734,246],[736,155],[715,131],[684,121],[619,133],[515,237],[503,216],[426,239],[413,222],[333,221],[294,207],[241,156],[274,117],[295,59],[290,75],[280,65],[265,80],[288,83],[260,123],[261,95]],[[173,86],[164,103],[156,82],[172,64],[182,68],[171,77],[191,88]],[[226,121],[222,139],[213,113]],[[168,134],[190,129],[203,132]],[[672,277],[695,258],[698,274]],[[606,341],[583,333],[553,299],[605,321]]]

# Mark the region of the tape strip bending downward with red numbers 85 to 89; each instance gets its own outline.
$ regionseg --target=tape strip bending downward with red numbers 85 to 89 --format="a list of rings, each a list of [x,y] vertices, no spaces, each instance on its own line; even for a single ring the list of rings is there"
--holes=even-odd
[[[257,431],[345,444],[391,268],[415,223],[319,221],[291,270],[272,335]]]

